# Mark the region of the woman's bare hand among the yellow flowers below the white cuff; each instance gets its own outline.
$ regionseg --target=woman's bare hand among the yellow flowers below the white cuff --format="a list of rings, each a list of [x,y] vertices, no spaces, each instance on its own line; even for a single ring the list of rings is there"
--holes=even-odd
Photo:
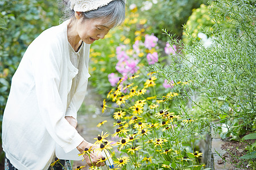
[[[100,166],[104,166],[105,163],[104,162],[101,162],[101,163],[98,163],[97,162],[103,158],[103,156],[101,155],[101,153],[98,153],[98,151],[95,151],[96,148],[100,148],[99,145],[93,145],[92,143],[89,143],[87,141],[82,141],[82,143],[80,143],[79,146],[77,146],[77,150],[80,151],[80,153],[82,154],[82,152],[85,150],[85,148],[91,148],[91,150],[94,150],[94,152],[92,151],[90,153],[90,158],[88,155],[84,155],[84,158],[85,158],[85,161],[86,163],[91,167],[92,165],[96,166],[97,167],[100,167]]]

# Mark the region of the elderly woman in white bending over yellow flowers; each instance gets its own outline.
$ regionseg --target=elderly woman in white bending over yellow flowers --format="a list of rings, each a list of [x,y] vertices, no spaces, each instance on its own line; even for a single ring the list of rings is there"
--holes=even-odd
[[[123,22],[125,0],[75,0],[66,5],[72,15],[28,46],[13,76],[2,124],[6,169],[48,169],[56,145],[65,152],[93,146],[75,129],[90,76],[89,48]],[[92,153],[92,163],[88,156],[85,160],[96,165],[101,157]],[[64,162],[67,167],[69,161]]]

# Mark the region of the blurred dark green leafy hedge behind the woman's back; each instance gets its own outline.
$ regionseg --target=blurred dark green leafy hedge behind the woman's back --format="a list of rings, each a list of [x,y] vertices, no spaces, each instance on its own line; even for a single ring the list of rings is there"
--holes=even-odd
[[[10,90],[11,77],[20,59],[32,40],[44,29],[59,23],[60,12],[57,2],[51,0],[2,0],[0,11],[0,26],[5,25],[7,29],[0,29],[0,122],[2,127],[2,115]]]

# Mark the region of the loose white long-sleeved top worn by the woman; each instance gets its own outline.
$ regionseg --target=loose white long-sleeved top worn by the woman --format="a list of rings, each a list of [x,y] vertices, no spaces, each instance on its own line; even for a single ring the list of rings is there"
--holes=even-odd
[[[90,45],[83,42],[80,47],[77,69],[71,62],[68,22],[39,35],[13,76],[3,114],[2,147],[18,169],[48,169],[56,144],[69,152],[84,140],[65,116],[76,118],[84,100]],[[75,90],[69,93],[71,87]]]

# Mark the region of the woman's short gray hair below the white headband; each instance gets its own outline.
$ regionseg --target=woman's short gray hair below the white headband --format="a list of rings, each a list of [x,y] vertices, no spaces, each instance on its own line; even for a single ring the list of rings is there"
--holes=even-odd
[[[63,10],[63,18],[61,20],[75,18],[75,11],[70,8],[70,0],[60,0],[59,6]],[[121,25],[125,20],[125,1],[115,0],[110,2],[108,5],[98,8],[97,10],[82,12],[84,19],[93,18],[108,18],[107,25],[114,24],[114,27]]]

